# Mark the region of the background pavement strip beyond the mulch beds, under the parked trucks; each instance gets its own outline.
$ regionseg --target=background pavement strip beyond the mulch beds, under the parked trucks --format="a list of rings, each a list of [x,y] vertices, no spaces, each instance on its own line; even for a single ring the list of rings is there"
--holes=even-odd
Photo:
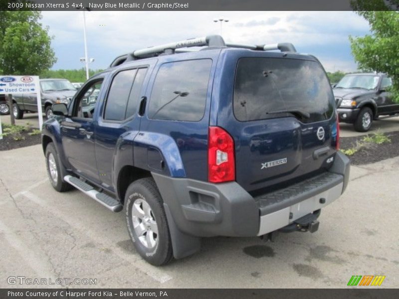
[[[45,118],[43,115],[43,122],[44,121]],[[9,124],[10,123],[9,115],[1,116],[1,122]],[[23,119],[15,120],[15,124],[22,126],[30,125],[32,128],[39,128],[38,114],[26,113],[24,114]],[[374,121],[370,131],[366,133],[356,132],[353,129],[352,124],[340,123],[340,128],[341,128],[341,137],[362,136],[367,134],[373,134],[376,132],[383,132],[383,133],[394,132],[399,130],[399,117],[388,118],[381,121]]]

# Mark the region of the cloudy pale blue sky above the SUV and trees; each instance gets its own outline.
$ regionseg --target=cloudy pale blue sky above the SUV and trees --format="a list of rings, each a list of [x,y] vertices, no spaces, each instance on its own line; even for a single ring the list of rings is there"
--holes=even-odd
[[[43,11],[42,24],[54,36],[57,62],[52,69],[84,65],[83,12]],[[369,24],[352,11],[86,11],[91,69],[105,69],[121,54],[153,45],[209,34],[227,42],[291,42],[300,53],[315,55],[326,71],[356,71],[349,35],[370,34]]]

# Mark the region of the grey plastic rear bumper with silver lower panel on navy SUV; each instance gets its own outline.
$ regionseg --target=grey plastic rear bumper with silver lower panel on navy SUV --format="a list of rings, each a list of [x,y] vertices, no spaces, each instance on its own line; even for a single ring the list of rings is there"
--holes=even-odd
[[[337,152],[328,172],[252,197],[238,183],[212,184],[157,173],[153,177],[179,231],[197,237],[260,236],[336,200],[349,180],[350,161]],[[169,213],[169,212],[168,212]]]

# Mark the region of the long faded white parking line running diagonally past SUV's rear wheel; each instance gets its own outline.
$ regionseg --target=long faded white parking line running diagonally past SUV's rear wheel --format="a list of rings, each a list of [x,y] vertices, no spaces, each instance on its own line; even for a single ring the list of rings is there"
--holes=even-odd
[[[85,232],[81,231],[81,227],[78,226],[74,221],[71,221],[71,219],[69,217],[66,217],[64,214],[60,213],[57,210],[51,209],[48,204],[46,203],[45,200],[41,199],[39,196],[33,194],[32,192],[29,191],[22,191],[20,192],[21,195],[23,195],[25,198],[30,199],[32,202],[34,202],[35,204],[41,206],[42,208],[46,209],[47,211],[49,211],[51,214],[53,214],[55,217],[63,220],[64,222],[68,223],[71,227],[73,227],[74,229],[76,229],[77,231],[86,234]],[[86,234],[87,236],[87,234]],[[91,237],[88,236],[88,238],[92,239]],[[95,241],[95,240],[94,240]],[[173,277],[162,273],[162,270],[159,270],[157,268],[155,268],[154,266],[151,266],[149,264],[147,264],[147,262],[143,261],[141,259],[141,257],[133,260],[130,256],[126,257],[126,254],[119,249],[118,247],[115,247],[114,243],[110,243],[108,242],[107,239],[103,239],[101,238],[101,240],[99,240],[101,243],[106,244],[109,247],[112,247],[114,252],[123,260],[133,264],[134,267],[136,267],[139,271],[147,274],[149,277],[151,277],[152,279],[154,279],[155,281],[163,284],[166,283],[167,281],[170,281]]]

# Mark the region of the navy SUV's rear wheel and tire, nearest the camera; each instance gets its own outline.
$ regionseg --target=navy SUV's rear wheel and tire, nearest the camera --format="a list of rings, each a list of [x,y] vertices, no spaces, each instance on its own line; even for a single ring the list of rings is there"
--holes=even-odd
[[[140,256],[154,266],[169,263],[173,257],[172,241],[163,201],[153,178],[130,184],[125,212],[129,235]]]

